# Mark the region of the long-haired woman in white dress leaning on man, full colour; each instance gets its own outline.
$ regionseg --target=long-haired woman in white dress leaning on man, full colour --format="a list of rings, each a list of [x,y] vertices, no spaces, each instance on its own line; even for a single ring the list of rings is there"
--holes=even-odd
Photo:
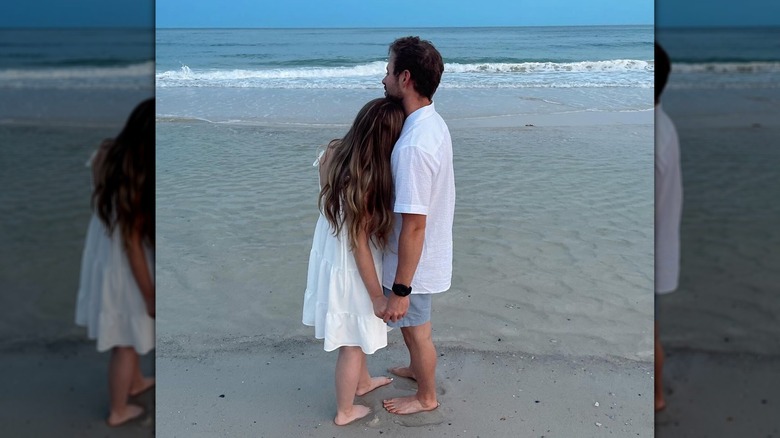
[[[315,163],[321,214],[309,256],[303,323],[315,327],[325,351],[339,350],[333,421],[340,426],[370,412],[353,404],[356,395],[392,381],[369,375],[366,354],[387,346],[381,250],[393,228],[390,154],[403,123],[399,103],[374,99]]]

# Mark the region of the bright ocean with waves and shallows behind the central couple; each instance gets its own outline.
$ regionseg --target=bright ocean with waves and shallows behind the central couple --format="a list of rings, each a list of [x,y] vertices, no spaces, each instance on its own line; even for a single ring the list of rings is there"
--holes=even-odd
[[[649,361],[652,26],[158,29],[158,357],[316,342],[312,162],[405,35],[442,53],[455,157],[437,342]]]

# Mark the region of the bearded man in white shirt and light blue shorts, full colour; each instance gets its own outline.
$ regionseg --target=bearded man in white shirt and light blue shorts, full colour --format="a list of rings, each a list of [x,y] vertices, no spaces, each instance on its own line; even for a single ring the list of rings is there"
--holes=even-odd
[[[436,348],[431,337],[431,295],[450,288],[455,177],[449,129],[436,112],[433,94],[444,62],[418,37],[390,45],[385,95],[401,101],[406,121],[391,158],[395,228],[384,254],[382,286],[388,297],[384,320],[400,327],[408,367],[390,372],[417,380],[417,393],[384,401],[394,414],[436,409]]]

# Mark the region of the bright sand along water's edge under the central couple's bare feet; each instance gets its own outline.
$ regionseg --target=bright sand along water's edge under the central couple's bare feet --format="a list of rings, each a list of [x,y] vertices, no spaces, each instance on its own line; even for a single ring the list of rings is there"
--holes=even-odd
[[[400,333],[391,332],[390,338],[387,348],[368,359],[373,375],[386,374],[386,367],[408,360]],[[476,352],[442,345],[437,352],[437,410],[412,416],[384,411],[382,399],[415,390],[413,381],[396,377],[387,387],[358,398],[372,413],[344,427],[332,423],[337,354],[324,352],[321,341],[159,354],[158,376],[169,382],[158,390],[159,432],[268,437],[358,437],[366,432],[420,437],[653,434],[649,362]],[[268,394],[277,396],[269,399]]]

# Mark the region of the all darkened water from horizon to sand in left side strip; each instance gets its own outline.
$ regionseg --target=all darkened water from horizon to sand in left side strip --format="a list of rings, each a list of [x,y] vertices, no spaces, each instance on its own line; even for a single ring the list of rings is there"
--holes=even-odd
[[[149,29],[0,29],[0,345],[83,339],[85,163],[154,94]]]

